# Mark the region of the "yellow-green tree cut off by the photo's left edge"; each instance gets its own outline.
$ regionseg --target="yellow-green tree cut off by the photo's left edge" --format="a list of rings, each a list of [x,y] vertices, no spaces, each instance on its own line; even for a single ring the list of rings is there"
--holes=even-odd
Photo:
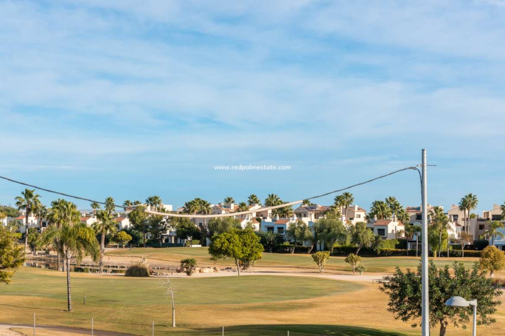
[[[24,261],[23,249],[18,245],[14,234],[0,225],[0,283],[10,284]]]

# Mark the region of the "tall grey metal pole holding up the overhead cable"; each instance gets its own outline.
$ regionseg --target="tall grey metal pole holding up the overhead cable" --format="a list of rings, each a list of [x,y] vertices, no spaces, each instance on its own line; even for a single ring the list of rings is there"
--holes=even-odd
[[[422,150],[422,188],[421,188],[421,197],[422,197],[422,225],[421,225],[421,237],[422,246],[421,246],[421,266],[422,266],[422,320],[421,320],[421,328],[422,335],[429,336],[430,334],[430,307],[429,307],[429,284],[428,284],[428,187],[426,180],[426,149]]]

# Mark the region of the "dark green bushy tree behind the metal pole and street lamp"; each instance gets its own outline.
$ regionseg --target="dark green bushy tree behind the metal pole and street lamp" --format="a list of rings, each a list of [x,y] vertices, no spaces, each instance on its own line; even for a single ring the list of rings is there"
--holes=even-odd
[[[439,324],[440,336],[445,336],[449,323],[465,327],[473,314],[471,307],[456,309],[446,306],[445,302],[452,296],[479,300],[477,324],[489,325],[496,321],[492,315],[501,302],[495,298],[502,293],[500,289],[491,286],[491,280],[486,279],[478,267],[478,263],[475,263],[473,268],[468,270],[463,263],[455,262],[452,276],[448,265],[438,269],[433,260],[429,261],[430,327]],[[380,290],[389,296],[388,311],[393,313],[395,318],[403,322],[414,322],[413,327],[418,326],[421,319],[421,264],[417,272],[410,269],[403,272],[396,266],[394,275],[384,279],[388,281],[381,284]]]

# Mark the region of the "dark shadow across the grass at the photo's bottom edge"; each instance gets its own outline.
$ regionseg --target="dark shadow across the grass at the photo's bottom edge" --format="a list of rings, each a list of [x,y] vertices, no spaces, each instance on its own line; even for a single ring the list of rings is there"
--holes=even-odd
[[[292,336],[302,335],[339,335],[339,336],[406,336],[405,333],[366,328],[350,325],[324,325],[324,324],[258,324],[225,326],[225,335],[262,335],[277,336],[287,333]],[[167,334],[179,334],[181,331],[171,330]],[[185,331],[186,335],[211,335],[216,332],[221,334],[221,328],[199,328]]]

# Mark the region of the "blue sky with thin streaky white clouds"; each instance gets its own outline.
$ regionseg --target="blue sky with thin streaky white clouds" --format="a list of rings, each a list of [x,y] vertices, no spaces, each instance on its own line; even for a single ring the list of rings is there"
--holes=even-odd
[[[431,204],[505,201],[503,1],[0,0],[0,22],[2,175],[118,203],[294,200],[425,147]],[[238,164],[291,170],[214,170]],[[0,181],[0,203],[21,190]],[[351,191],[420,203],[414,172]]]

